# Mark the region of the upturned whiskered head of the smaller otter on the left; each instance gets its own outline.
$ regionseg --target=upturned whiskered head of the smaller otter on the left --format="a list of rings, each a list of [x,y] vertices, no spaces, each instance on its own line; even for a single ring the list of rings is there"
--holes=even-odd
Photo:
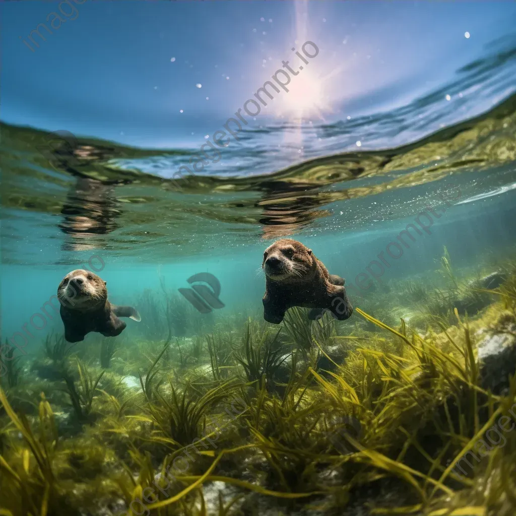
[[[107,300],[106,282],[89,270],[72,270],[59,283],[57,298],[65,308],[95,310]]]

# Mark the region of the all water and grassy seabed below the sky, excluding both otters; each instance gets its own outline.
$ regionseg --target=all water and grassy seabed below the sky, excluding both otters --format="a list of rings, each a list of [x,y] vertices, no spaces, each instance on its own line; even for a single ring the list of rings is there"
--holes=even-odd
[[[512,34],[187,176],[193,146],[2,121],[0,515],[514,514],[514,77]],[[264,320],[280,238],[351,317]],[[67,342],[74,269],[141,320]]]

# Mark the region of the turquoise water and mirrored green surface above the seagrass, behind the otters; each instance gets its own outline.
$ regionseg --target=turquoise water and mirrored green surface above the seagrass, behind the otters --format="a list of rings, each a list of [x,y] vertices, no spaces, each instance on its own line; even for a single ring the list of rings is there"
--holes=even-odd
[[[260,311],[263,250],[284,236],[310,246],[330,272],[354,284],[348,290],[356,297],[367,295],[357,288],[357,275],[418,216],[420,234],[412,230],[408,248],[391,247],[403,254],[382,262],[382,282],[435,269],[444,246],[464,269],[481,268],[491,255],[508,258],[516,208],[515,105],[516,96],[509,96],[471,121],[392,150],[344,152],[268,174],[209,180],[159,179],[148,173],[150,157],[133,157],[128,169],[120,156],[172,158],[80,137],[74,146],[100,149],[89,151],[95,157],[67,155],[65,144],[64,155],[51,155],[56,169],[35,150],[50,137],[4,124],[2,334],[20,331],[62,277],[92,256],[95,268],[99,257],[104,262],[100,275],[118,304],[144,289],[158,294],[160,276],[176,291],[191,275],[209,272],[221,284],[219,317],[243,304]],[[392,117],[383,115],[389,124]],[[370,131],[382,126],[381,119],[363,123]],[[269,166],[275,163],[270,157]],[[38,348],[48,329],[60,331],[58,319],[47,321],[28,348]],[[130,321],[127,331],[137,327]]]

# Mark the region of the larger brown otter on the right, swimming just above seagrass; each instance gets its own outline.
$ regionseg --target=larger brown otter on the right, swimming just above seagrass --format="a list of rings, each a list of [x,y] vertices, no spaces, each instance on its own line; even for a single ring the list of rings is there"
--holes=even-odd
[[[263,254],[266,276],[263,317],[280,324],[292,307],[311,308],[308,317],[317,319],[329,310],[338,320],[353,313],[344,279],[330,275],[312,249],[291,238],[282,238]]]

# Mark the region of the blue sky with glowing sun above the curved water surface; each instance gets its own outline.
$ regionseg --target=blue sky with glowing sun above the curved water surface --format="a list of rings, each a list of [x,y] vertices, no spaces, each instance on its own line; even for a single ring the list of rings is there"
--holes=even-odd
[[[146,147],[198,146],[306,39],[310,116],[340,120],[431,90],[516,21],[493,1],[69,2],[35,52],[22,39],[60,3],[2,3],[2,120]]]

